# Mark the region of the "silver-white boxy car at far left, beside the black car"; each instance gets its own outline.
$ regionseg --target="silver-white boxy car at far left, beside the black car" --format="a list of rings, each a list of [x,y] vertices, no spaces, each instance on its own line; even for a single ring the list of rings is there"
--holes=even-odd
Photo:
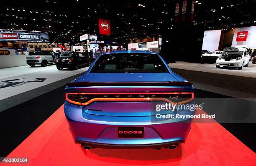
[[[53,51],[31,51],[27,55],[27,64],[31,67],[35,65],[46,66],[54,63],[55,53]]]

